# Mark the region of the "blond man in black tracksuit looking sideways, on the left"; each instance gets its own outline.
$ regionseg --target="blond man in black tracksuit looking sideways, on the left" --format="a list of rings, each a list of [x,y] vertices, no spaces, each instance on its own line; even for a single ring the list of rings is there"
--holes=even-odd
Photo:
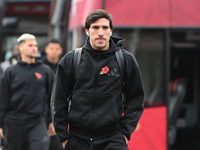
[[[0,136],[8,150],[48,150],[46,119],[54,75],[36,58],[34,35],[23,34],[17,41],[21,57],[1,79]]]

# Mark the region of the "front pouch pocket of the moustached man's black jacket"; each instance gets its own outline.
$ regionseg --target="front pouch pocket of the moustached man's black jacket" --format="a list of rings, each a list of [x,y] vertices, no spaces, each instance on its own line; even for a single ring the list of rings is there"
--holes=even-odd
[[[115,97],[73,93],[68,115],[70,127],[82,133],[104,134],[119,121]]]

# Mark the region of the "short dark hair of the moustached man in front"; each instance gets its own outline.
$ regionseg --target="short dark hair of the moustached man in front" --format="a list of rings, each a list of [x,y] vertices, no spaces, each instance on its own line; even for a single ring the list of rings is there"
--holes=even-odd
[[[110,28],[113,29],[112,16],[103,9],[96,9],[90,12],[85,20],[85,29],[89,29],[90,25],[100,18],[106,18],[110,22]]]

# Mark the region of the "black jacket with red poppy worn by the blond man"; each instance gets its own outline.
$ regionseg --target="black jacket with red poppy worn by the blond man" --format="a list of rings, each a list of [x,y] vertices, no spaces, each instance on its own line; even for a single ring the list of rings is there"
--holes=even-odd
[[[53,80],[51,69],[38,59],[31,64],[19,59],[8,68],[0,85],[0,128],[5,117],[17,124],[45,120],[50,112]]]

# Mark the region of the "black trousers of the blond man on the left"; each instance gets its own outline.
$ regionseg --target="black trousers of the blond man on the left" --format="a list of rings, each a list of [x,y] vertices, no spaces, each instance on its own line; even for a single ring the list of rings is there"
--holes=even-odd
[[[4,146],[6,150],[48,150],[49,135],[46,122],[15,124],[5,122]]]

